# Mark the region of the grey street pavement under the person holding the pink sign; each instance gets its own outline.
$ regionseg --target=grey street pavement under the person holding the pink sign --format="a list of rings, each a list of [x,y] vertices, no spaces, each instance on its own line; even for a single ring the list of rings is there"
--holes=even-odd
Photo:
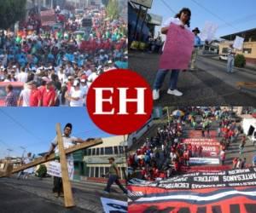
[[[129,51],[129,69],[141,74],[150,86],[153,86],[158,69],[160,55],[146,52]],[[236,88],[236,82],[256,82],[256,71],[234,69],[234,73],[226,72],[226,64],[209,57],[199,56],[194,72],[180,72],[177,88],[183,96],[167,95],[168,80],[160,90],[160,100],[154,106],[254,106],[256,90]]]

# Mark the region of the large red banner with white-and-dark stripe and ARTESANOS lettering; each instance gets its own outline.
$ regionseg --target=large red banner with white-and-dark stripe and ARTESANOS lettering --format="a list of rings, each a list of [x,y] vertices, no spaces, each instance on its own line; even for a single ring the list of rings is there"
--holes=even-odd
[[[256,169],[195,172],[128,182],[129,212],[254,212]]]

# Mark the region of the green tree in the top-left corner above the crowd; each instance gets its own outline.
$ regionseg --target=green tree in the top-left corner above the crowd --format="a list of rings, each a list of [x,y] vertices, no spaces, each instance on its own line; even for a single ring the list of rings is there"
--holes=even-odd
[[[26,0],[0,1],[0,29],[8,29],[26,15]]]

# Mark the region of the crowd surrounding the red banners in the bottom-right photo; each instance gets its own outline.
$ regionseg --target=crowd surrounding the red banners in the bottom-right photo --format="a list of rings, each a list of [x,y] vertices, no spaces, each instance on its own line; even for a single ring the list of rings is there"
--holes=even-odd
[[[241,125],[236,124],[230,116],[230,111],[218,107],[186,107],[181,117],[172,116],[171,120],[149,139],[136,152],[128,156],[129,177],[155,181],[181,174],[182,169],[190,166],[189,158],[203,158],[204,150],[201,145],[183,143],[184,129],[201,130],[201,138],[210,138],[210,129],[214,122],[216,137],[220,141],[220,164],[224,165],[226,151],[230,143],[241,140],[240,150],[246,143],[246,136],[241,135]],[[196,120],[200,118],[200,120]],[[205,134],[207,132],[207,134]],[[236,158],[233,168],[245,168],[246,158]]]

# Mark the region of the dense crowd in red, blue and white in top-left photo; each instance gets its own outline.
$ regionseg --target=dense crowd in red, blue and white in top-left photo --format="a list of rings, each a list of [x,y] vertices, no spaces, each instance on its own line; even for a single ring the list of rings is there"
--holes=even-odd
[[[84,106],[100,74],[128,67],[125,20],[109,20],[105,9],[84,9],[83,17],[60,11],[59,28],[44,26],[32,10],[17,33],[1,32],[0,83],[9,82],[5,106]],[[18,95],[15,81],[24,83]]]

